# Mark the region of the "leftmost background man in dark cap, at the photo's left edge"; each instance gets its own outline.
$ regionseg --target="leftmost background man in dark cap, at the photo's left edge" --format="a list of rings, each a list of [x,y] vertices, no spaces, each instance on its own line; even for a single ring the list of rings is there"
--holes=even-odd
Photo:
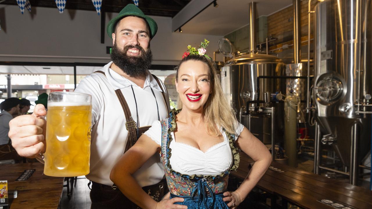
[[[8,98],[0,103],[0,145],[9,144],[9,122],[19,113],[20,100]]]

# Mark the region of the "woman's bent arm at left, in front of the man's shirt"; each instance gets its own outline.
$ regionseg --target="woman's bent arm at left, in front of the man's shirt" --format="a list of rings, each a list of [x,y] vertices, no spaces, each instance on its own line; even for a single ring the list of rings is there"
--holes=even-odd
[[[160,146],[145,134],[119,159],[112,168],[110,179],[120,191],[141,208],[155,209],[157,202],[142,190],[132,176],[153,156]]]

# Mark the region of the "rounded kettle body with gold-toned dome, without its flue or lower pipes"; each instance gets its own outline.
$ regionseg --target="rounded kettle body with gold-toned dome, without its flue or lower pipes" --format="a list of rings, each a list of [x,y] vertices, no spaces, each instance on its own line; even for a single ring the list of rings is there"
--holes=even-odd
[[[285,80],[260,79],[260,92],[257,92],[257,77],[262,75],[284,75],[285,65],[282,60],[266,54],[243,54],[234,57],[221,68],[221,84],[231,107],[240,117],[240,110],[247,101],[263,100],[269,91],[285,92]]]

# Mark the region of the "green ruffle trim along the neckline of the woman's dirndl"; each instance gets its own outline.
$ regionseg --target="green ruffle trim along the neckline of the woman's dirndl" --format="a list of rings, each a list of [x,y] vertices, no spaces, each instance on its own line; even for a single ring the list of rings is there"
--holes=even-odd
[[[230,133],[228,133],[227,131],[225,131],[225,134],[227,136],[227,139],[229,141],[229,144],[230,144],[230,148],[231,148],[231,151],[232,151],[232,156],[234,158],[234,163],[231,165],[231,168],[228,170],[228,171],[225,171],[225,172],[222,172],[221,174],[219,175],[216,175],[216,176],[204,176],[204,175],[192,175],[192,176],[189,176],[189,175],[186,175],[186,174],[182,174],[182,173],[179,173],[175,170],[172,169],[171,165],[169,164],[169,158],[171,157],[171,148],[169,148],[170,146],[170,142],[173,140],[172,138],[172,135],[171,135],[171,132],[174,132],[174,130],[177,128],[177,123],[176,123],[176,115],[181,112],[182,109],[179,109],[179,110],[176,110],[176,109],[171,109],[170,112],[169,112],[169,115],[170,115],[170,125],[171,127],[168,128],[168,137],[169,137],[169,140],[167,141],[167,147],[166,149],[168,149],[167,151],[167,162],[166,162],[166,167],[169,168],[170,172],[171,173],[175,173],[177,174],[178,176],[181,176],[183,178],[187,178],[187,179],[207,179],[207,180],[214,180],[216,178],[220,178],[220,177],[224,177],[225,174],[230,174],[230,172],[232,170],[236,171],[239,167],[239,163],[240,163],[240,155],[239,155],[239,152],[238,152],[238,148],[236,148],[234,146],[234,136]]]

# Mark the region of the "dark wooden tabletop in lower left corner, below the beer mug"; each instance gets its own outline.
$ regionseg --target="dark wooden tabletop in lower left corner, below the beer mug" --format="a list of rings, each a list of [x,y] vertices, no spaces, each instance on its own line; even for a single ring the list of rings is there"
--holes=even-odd
[[[26,181],[15,181],[24,170],[36,171]],[[17,190],[17,198],[9,198],[10,209],[55,209],[60,203],[63,178],[43,175],[41,163],[0,165],[0,180],[8,181],[8,191]]]

